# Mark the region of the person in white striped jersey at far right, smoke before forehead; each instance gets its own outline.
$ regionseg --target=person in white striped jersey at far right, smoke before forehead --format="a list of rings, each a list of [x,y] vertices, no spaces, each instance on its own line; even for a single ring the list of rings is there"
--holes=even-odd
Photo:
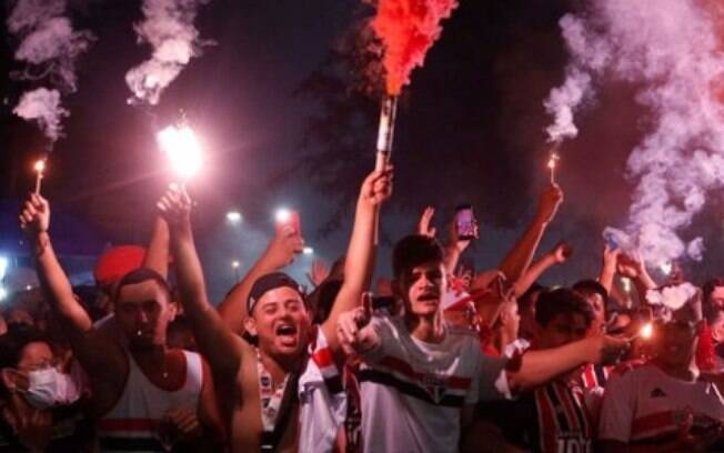
[[[722,436],[724,400],[696,366],[701,293],[681,286],[693,295],[683,305],[670,304],[671,315],[655,324],[654,358],[622,366],[609,380],[599,425],[602,451],[705,451]]]

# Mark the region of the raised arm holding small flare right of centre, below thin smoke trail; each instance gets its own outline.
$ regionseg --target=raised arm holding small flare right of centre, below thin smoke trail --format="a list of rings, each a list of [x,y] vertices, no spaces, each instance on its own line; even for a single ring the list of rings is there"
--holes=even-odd
[[[561,191],[561,188],[554,183],[549,184],[541,194],[533,222],[499,266],[509,281],[517,281],[531,265],[543,233],[555,217],[562,201],[563,191]]]

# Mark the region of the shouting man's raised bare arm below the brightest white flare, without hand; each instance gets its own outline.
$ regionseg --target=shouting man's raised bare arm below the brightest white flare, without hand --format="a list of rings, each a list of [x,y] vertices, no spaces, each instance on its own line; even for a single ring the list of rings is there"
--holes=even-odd
[[[203,270],[193,243],[190,226],[180,226],[172,234],[181,303],[191,321],[199,348],[215,373],[227,376],[237,372],[240,353],[237,338],[223,323],[207,299]]]

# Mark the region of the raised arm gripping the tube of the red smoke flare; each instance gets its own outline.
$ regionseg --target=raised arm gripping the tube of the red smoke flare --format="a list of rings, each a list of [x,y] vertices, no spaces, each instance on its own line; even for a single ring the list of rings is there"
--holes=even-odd
[[[374,268],[375,212],[392,194],[392,168],[375,171],[365,178],[354,214],[352,238],[344,261],[344,281],[322,331],[333,352],[340,351],[335,333],[341,313],[360,305],[362,293],[370,288]]]

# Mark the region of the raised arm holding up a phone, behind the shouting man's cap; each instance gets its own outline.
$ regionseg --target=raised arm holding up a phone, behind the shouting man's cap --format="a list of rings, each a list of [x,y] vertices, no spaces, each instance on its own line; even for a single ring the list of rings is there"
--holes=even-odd
[[[303,246],[304,240],[293,226],[286,225],[276,232],[261,258],[217,308],[223,322],[233,332],[243,332],[244,320],[249,316],[247,299],[254,282],[262,275],[291,264]]]

